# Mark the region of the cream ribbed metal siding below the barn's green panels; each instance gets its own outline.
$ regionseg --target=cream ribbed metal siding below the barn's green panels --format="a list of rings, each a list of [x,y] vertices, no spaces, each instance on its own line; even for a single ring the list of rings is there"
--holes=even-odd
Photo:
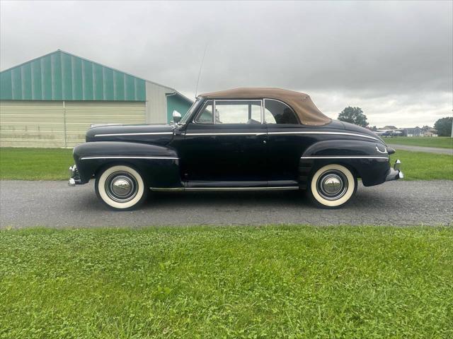
[[[90,124],[144,122],[144,102],[5,100],[0,101],[0,145],[73,147],[85,141]]]

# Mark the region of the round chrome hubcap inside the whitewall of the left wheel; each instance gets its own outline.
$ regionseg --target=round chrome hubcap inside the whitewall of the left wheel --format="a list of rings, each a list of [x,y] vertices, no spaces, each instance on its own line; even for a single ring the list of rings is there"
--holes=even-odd
[[[105,180],[105,191],[114,201],[125,203],[136,196],[137,181],[127,172],[115,172]]]

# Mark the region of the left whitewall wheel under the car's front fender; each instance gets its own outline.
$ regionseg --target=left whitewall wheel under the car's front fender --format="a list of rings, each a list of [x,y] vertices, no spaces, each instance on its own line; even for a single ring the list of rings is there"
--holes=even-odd
[[[147,198],[144,179],[136,169],[113,165],[103,169],[96,178],[96,195],[110,208],[132,210]]]

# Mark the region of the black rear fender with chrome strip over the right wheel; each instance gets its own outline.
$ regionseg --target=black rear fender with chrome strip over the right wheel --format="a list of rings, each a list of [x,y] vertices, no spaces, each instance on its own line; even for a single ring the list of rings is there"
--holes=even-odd
[[[382,143],[362,140],[326,140],[314,143],[301,156],[300,178],[308,182],[313,172],[331,163],[346,165],[362,178],[364,186],[385,182],[389,154]]]

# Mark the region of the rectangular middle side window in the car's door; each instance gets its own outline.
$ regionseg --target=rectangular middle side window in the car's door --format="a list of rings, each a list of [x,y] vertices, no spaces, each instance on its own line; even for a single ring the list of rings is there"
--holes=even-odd
[[[215,100],[216,124],[261,124],[261,100]]]

